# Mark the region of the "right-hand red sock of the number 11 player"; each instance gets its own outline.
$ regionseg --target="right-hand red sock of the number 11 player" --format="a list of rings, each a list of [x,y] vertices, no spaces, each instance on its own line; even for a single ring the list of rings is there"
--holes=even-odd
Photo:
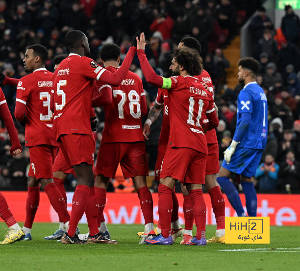
[[[193,201],[193,210],[195,213],[195,223],[197,226],[196,238],[200,240],[201,238],[205,238],[206,205],[202,189],[189,190],[189,193]]]

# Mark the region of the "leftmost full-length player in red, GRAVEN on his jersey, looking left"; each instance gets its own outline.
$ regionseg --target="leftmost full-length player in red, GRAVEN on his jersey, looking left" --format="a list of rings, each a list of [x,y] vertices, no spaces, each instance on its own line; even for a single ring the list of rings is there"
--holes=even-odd
[[[24,240],[31,240],[31,228],[39,206],[40,187],[45,190],[54,210],[67,225],[70,215],[64,198],[53,182],[52,164],[57,153],[57,142],[52,130],[50,94],[53,74],[46,70],[48,51],[42,45],[31,45],[24,57],[25,75],[17,86],[15,117],[25,122],[25,146],[29,148],[28,197]]]

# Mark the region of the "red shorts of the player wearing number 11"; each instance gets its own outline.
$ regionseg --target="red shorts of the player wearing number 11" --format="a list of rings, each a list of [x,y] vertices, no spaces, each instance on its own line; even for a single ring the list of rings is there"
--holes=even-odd
[[[172,177],[181,183],[205,183],[207,155],[192,148],[167,147],[160,177]]]

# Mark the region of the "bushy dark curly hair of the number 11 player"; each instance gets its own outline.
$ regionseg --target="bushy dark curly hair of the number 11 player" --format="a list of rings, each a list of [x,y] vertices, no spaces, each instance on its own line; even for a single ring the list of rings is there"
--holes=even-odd
[[[195,49],[181,47],[175,49],[173,57],[176,62],[181,65],[190,75],[201,74],[203,70],[202,58]]]

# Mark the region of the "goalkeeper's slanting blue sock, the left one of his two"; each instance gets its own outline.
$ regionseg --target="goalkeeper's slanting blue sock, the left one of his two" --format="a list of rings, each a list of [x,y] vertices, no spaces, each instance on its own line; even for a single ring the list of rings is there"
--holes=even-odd
[[[241,198],[233,183],[229,181],[228,177],[218,177],[217,181],[225,192],[230,204],[236,211],[237,215],[239,217],[243,216],[244,208],[241,202]]]

